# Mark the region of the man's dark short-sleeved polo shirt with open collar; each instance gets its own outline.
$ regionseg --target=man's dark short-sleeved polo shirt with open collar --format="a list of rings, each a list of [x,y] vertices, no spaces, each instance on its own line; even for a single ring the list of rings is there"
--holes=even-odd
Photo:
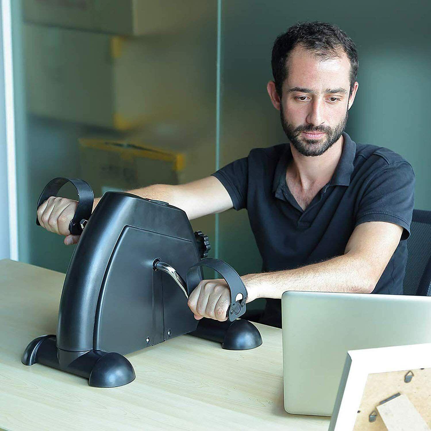
[[[289,144],[255,148],[215,172],[234,204],[247,209],[263,260],[262,271],[281,271],[344,254],[353,229],[364,222],[391,222],[404,228],[400,244],[372,293],[402,294],[406,239],[414,206],[415,174],[399,154],[356,144],[344,132],[334,175],[305,211],[286,183]],[[256,272],[258,269],[256,268]],[[286,286],[286,290],[295,286]],[[312,286],[310,286],[312,290]],[[262,323],[281,328],[281,301],[268,299]]]

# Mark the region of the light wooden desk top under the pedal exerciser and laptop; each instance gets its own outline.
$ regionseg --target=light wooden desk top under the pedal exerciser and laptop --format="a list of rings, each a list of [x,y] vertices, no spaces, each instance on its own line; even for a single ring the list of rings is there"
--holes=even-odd
[[[55,334],[65,275],[0,260],[0,428],[6,430],[259,429],[327,430],[329,419],[283,408],[281,330],[258,326],[262,346],[223,350],[182,335],[127,358],[136,379],[115,388],[21,355]]]

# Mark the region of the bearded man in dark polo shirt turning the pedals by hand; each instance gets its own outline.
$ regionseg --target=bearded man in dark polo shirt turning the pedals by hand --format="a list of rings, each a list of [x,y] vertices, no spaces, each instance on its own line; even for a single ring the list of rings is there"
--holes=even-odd
[[[247,208],[263,272],[241,278],[247,302],[268,298],[262,323],[281,327],[286,290],[403,292],[415,176],[398,154],[344,132],[357,70],[356,47],[339,28],[292,26],[275,41],[267,85],[289,144],[251,150],[188,184],[130,191],[178,206],[189,219]],[[50,197],[37,214],[72,244],[75,209],[75,201]],[[196,319],[226,320],[225,281],[202,281],[188,304]]]

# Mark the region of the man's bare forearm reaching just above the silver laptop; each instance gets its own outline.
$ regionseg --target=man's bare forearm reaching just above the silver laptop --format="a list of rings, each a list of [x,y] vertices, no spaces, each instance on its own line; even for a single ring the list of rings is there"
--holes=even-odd
[[[302,268],[248,274],[241,278],[247,290],[255,290],[256,297],[262,298],[281,298],[286,290],[370,293],[377,282],[367,262],[353,253]]]

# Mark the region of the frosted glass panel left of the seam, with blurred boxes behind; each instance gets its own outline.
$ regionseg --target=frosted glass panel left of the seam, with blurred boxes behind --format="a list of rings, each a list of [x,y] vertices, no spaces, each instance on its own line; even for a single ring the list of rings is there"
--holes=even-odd
[[[66,272],[75,246],[35,224],[51,178],[97,197],[214,171],[217,4],[12,3],[19,256]],[[214,238],[214,219],[193,227]]]

